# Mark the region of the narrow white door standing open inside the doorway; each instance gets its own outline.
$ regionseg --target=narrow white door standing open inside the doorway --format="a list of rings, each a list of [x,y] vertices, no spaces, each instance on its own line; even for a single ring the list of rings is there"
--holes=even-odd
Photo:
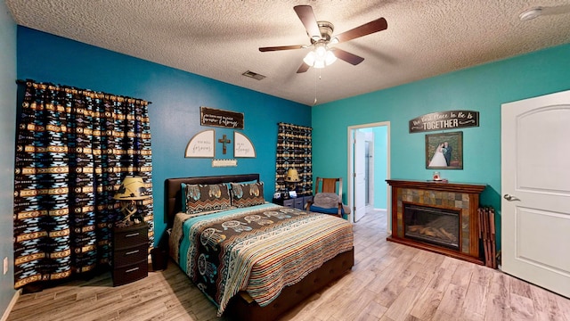
[[[354,130],[354,222],[366,214],[365,137],[361,131]]]

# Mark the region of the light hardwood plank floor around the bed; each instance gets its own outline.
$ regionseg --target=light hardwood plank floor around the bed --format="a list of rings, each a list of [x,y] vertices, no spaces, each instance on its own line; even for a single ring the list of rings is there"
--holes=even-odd
[[[570,300],[443,255],[386,241],[386,214],[354,225],[352,271],[283,320],[561,320]],[[25,294],[17,320],[226,320],[170,264],[133,284],[112,287],[110,274]]]

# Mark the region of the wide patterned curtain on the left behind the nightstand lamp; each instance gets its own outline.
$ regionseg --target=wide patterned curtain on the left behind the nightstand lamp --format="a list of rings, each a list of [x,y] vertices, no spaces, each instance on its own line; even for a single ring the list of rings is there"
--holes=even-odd
[[[14,287],[108,266],[122,179],[151,193],[148,102],[28,80],[16,136]],[[153,243],[152,198],[141,205]]]

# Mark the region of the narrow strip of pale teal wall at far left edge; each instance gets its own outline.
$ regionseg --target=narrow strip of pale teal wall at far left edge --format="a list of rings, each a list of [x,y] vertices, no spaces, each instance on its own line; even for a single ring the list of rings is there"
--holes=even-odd
[[[0,1],[0,267],[8,258],[8,273],[0,268],[0,311],[4,313],[14,291],[12,213],[16,119],[16,24]],[[1,315],[0,315],[1,317]]]

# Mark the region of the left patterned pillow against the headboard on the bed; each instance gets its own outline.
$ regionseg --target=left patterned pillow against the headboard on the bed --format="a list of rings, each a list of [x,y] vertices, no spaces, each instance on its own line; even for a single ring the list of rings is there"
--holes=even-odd
[[[225,210],[232,207],[230,191],[225,184],[190,185],[183,189],[183,202],[187,214],[195,214],[211,210]]]

